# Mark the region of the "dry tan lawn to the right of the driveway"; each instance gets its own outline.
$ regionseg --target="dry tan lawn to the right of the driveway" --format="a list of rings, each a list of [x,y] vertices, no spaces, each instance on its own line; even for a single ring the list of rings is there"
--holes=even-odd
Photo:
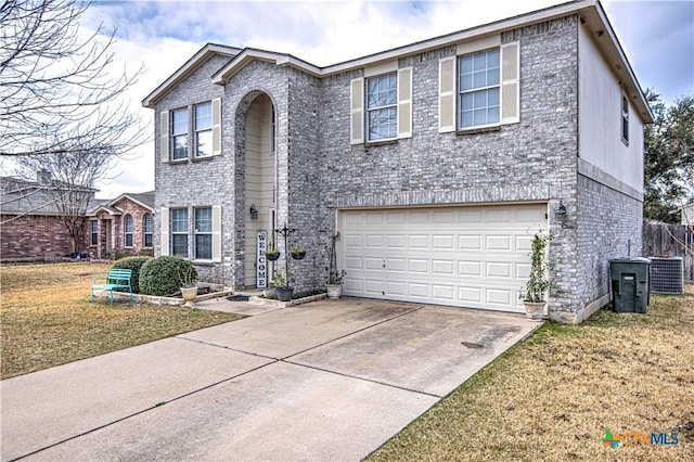
[[[549,323],[374,452],[370,461],[694,460],[694,286],[647,315]],[[611,449],[606,429],[678,432]]]

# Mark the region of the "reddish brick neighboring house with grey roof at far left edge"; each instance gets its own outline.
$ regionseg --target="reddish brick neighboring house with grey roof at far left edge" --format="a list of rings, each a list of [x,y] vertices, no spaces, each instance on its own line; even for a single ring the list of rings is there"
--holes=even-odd
[[[54,187],[40,178],[27,181],[2,177],[0,181],[0,259],[57,260],[85,252],[86,239],[73,248],[73,240],[55,201]],[[89,191],[90,202],[94,201],[95,191]],[[81,235],[86,236],[86,228]]]

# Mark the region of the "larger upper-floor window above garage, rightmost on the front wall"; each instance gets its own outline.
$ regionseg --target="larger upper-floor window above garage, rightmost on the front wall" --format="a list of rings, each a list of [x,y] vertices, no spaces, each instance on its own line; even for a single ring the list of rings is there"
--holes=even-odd
[[[458,78],[458,128],[499,124],[499,49],[462,56]]]

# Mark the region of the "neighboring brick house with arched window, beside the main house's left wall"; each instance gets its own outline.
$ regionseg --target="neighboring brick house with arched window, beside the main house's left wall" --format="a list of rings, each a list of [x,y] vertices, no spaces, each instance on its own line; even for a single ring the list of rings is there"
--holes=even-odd
[[[154,191],[102,201],[87,216],[89,251],[95,258],[153,254]]]

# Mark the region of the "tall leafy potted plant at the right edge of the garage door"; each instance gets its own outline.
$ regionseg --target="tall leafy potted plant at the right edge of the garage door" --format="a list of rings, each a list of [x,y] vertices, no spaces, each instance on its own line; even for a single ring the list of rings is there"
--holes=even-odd
[[[538,233],[532,238],[532,252],[530,253],[530,277],[520,294],[528,319],[541,321],[544,317],[547,305],[545,294],[552,284],[549,278],[547,265],[547,246],[550,238]]]

